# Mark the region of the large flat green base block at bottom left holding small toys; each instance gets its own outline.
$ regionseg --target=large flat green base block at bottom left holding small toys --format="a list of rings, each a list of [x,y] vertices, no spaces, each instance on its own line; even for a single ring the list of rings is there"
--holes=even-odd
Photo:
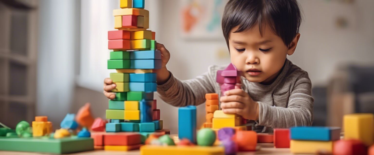
[[[68,154],[93,150],[92,138],[1,138],[1,151],[41,152]]]

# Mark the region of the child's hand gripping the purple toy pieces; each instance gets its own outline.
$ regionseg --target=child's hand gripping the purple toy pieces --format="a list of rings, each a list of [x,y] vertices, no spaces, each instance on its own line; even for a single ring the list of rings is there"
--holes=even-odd
[[[258,120],[258,103],[242,89],[232,89],[220,98],[221,109],[227,114],[239,114],[245,119]]]

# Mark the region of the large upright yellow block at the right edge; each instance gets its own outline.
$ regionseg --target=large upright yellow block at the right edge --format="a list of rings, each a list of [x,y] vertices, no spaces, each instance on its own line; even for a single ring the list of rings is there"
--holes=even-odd
[[[367,146],[373,144],[374,114],[346,114],[343,121],[344,139],[359,139]]]

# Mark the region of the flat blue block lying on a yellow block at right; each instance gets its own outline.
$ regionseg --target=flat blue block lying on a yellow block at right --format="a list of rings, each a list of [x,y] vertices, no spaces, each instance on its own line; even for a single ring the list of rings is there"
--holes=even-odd
[[[340,127],[299,126],[291,127],[291,139],[308,141],[336,141],[340,139]]]

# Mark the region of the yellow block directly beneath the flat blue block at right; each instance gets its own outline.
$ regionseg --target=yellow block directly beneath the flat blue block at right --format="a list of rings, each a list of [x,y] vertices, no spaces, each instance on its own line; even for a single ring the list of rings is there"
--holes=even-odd
[[[332,141],[296,141],[291,140],[293,154],[316,154],[319,151],[332,153]]]

